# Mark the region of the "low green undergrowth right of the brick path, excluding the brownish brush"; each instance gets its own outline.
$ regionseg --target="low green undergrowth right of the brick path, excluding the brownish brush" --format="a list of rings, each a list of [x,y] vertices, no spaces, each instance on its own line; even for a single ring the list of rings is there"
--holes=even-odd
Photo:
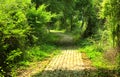
[[[104,58],[106,48],[102,47],[99,42],[91,39],[85,39],[80,41],[80,52],[86,53],[88,58],[92,61],[92,65],[96,68],[109,68],[114,67]]]

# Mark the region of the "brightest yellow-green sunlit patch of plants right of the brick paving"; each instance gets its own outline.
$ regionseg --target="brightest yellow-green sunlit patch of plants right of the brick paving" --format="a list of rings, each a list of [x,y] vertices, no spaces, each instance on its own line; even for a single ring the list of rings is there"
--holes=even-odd
[[[88,58],[92,61],[93,66],[103,67],[103,65],[105,65],[102,56],[103,53],[98,51],[94,45],[80,48],[80,51],[87,54]]]

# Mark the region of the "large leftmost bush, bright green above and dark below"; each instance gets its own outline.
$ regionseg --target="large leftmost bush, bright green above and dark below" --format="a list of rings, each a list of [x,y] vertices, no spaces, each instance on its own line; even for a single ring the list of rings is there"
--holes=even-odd
[[[12,68],[19,62],[30,27],[25,11],[28,5],[22,1],[5,0],[0,4],[0,71],[11,75]]]

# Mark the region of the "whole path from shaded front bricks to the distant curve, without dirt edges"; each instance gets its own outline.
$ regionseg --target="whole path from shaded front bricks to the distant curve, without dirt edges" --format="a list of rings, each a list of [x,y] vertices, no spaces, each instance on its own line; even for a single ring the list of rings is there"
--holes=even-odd
[[[82,54],[73,44],[73,37],[58,33],[61,53],[53,57],[41,74],[34,77],[84,77]]]

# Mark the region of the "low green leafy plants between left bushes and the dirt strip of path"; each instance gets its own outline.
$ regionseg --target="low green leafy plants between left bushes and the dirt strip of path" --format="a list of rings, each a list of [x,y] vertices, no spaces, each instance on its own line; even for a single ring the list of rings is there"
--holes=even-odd
[[[30,62],[36,62],[44,60],[51,56],[51,54],[58,53],[58,49],[51,45],[42,45],[42,46],[35,46],[30,47],[26,50],[24,60],[19,62],[19,65],[28,66]]]

